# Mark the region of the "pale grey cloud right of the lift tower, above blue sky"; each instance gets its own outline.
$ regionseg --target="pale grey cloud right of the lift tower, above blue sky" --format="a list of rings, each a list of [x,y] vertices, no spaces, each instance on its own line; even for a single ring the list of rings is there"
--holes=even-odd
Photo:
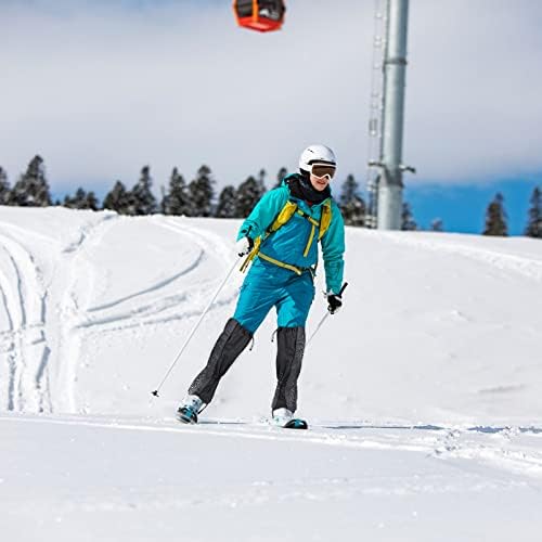
[[[542,4],[412,2],[408,159],[437,180],[542,166]]]

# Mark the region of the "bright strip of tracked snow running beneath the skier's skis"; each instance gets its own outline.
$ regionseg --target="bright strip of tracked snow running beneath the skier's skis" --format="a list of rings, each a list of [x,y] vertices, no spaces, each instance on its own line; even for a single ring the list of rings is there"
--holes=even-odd
[[[467,461],[542,479],[542,428],[538,427],[441,427],[397,425],[311,423],[308,430],[287,430],[266,421],[203,420],[198,425],[182,425],[175,418],[122,418],[107,416],[27,416],[2,421],[52,423],[122,431],[175,433],[180,437],[215,437],[270,440],[302,446],[326,446],[353,450],[403,451],[442,461]]]

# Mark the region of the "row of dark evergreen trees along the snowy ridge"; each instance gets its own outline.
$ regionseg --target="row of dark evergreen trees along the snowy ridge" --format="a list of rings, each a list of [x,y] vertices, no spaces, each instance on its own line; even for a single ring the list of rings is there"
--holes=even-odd
[[[286,173],[287,170],[281,168],[272,182],[272,188],[279,186]],[[0,205],[20,207],[56,205],[72,209],[109,209],[128,216],[160,212],[186,217],[245,218],[266,193],[266,177],[267,173],[262,169],[258,175],[249,176],[238,186],[228,184],[217,195],[209,167],[202,166],[190,182],[186,182],[176,167],[171,171],[167,186],[162,186],[160,197],[156,198],[152,190],[151,168],[144,166],[139,180],[131,189],[118,180],[102,203],[93,192],[87,192],[82,188],[77,189],[73,195],[66,195],[64,201],[53,203],[43,159],[41,156],[35,156],[13,186],[10,186],[8,175],[0,166]],[[349,175],[343,182],[337,203],[347,225],[365,227],[366,205],[360,195],[359,183],[352,175]],[[530,205],[524,234],[542,238],[542,191],[540,188],[533,190]],[[402,230],[420,229],[410,204],[404,203]],[[442,220],[435,219],[429,230],[443,231]],[[488,205],[486,224],[481,233],[483,235],[508,235],[507,215],[502,194],[496,194]]]

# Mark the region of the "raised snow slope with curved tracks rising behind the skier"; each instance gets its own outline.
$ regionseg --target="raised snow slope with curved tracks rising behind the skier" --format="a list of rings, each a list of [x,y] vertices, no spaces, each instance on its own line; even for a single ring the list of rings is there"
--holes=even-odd
[[[240,222],[62,208],[2,207],[1,217],[0,408],[171,415],[234,310],[241,273],[162,399],[150,391],[233,264]],[[307,349],[305,415],[537,425],[542,243],[348,229],[346,263],[345,307]],[[324,314],[317,297],[309,333]],[[206,414],[268,414],[274,327],[271,313]]]

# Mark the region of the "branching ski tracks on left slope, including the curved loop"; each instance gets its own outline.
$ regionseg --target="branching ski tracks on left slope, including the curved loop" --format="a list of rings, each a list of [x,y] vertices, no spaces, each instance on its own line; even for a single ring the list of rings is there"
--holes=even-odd
[[[0,332],[3,358],[0,377],[5,383],[7,410],[77,412],[77,367],[85,337],[201,315],[219,280],[217,267],[232,257],[230,247],[212,232],[162,216],[152,217],[152,223],[198,246],[195,259],[144,289],[99,306],[89,305],[93,267],[87,247],[100,248],[108,229],[122,220],[126,218],[106,215],[83,223],[75,232],[75,241],[65,245],[47,235],[0,222],[5,232],[0,233],[0,257],[8,262],[0,268],[0,304],[9,325]],[[20,238],[35,238],[51,245],[56,257],[55,276],[47,287],[35,256],[8,231]],[[195,298],[190,294],[194,273],[198,276]],[[202,281],[202,278],[206,279]],[[225,288],[212,309],[230,305],[236,295],[236,288],[230,292]]]

